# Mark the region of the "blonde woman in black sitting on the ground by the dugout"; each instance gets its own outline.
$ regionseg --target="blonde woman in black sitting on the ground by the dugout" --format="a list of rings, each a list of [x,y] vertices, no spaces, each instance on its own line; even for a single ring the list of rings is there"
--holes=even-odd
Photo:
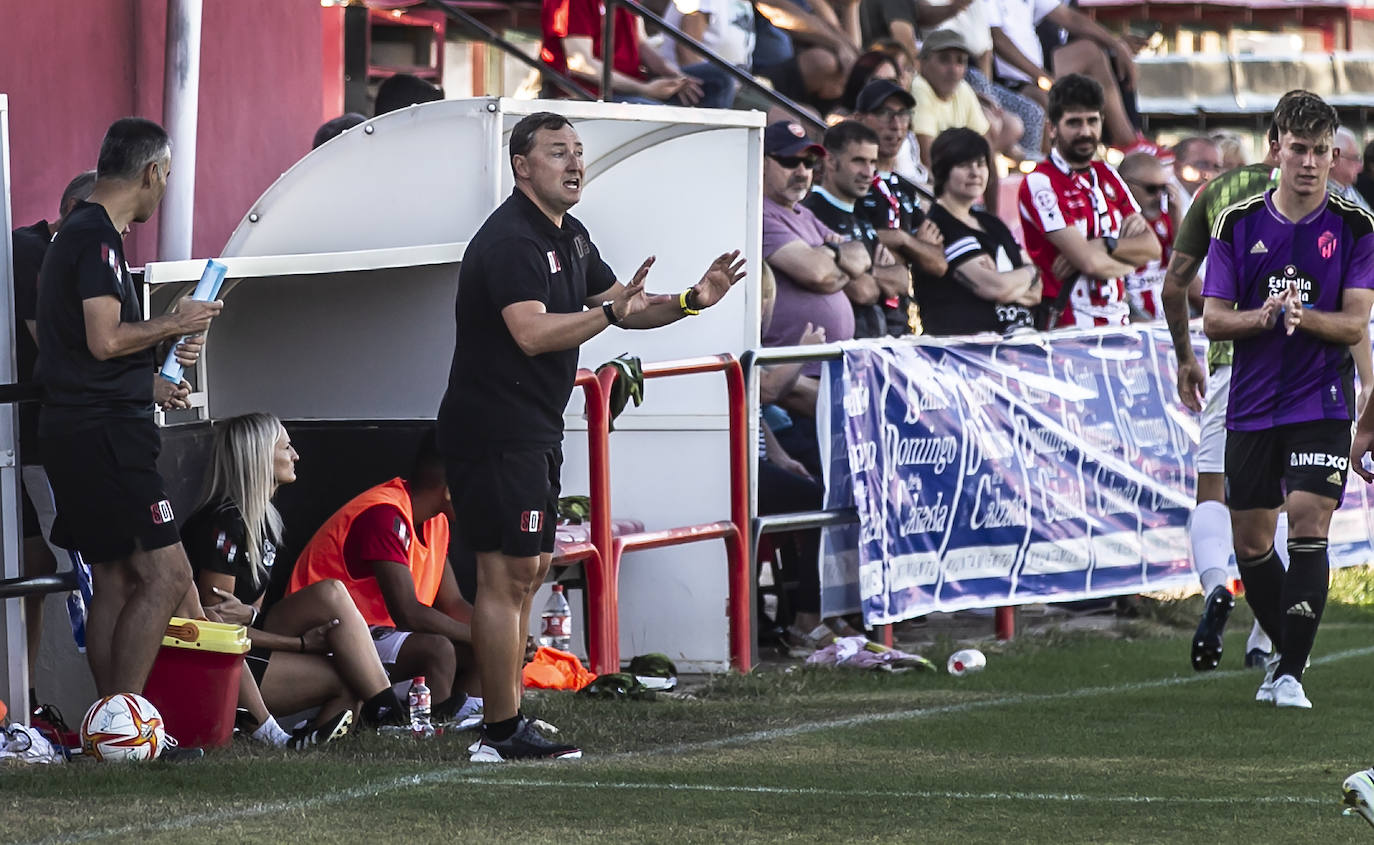
[[[257,723],[249,725],[254,739],[306,747],[346,734],[359,702],[367,702],[363,717],[374,724],[403,709],[342,583],[312,584],[262,611],[282,540],[272,496],[295,481],[297,459],[271,414],[218,423],[205,500],[181,536],[206,610],[250,628],[240,703]],[[311,708],[320,708],[319,717],[289,738],[271,716]]]

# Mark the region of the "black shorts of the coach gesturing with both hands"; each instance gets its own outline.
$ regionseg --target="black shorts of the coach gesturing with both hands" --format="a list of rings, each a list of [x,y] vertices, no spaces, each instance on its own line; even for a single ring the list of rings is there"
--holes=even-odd
[[[491,451],[447,462],[458,534],[473,551],[533,558],[554,551],[559,447]]]

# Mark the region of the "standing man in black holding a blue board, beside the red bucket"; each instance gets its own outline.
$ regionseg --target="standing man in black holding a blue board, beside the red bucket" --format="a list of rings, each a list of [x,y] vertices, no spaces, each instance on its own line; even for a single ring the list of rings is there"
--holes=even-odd
[[[157,210],[172,144],[153,121],[115,121],[95,188],[65,218],[38,276],[38,416],[58,517],[52,540],[92,565],[87,660],[100,695],[142,692],[168,618],[199,616],[157,458],[153,405],[184,407],[188,385],[155,375],[154,348],[210,326],[220,302],[183,300],[151,320],[124,260],[122,232]],[[184,365],[199,338],[177,346]]]

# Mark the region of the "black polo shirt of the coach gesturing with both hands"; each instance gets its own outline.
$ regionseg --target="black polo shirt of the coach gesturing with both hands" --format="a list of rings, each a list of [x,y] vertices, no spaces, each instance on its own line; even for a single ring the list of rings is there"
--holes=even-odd
[[[563,225],[554,225],[519,188],[492,212],[467,245],[458,273],[458,341],[438,411],[444,455],[563,441],[577,349],[525,354],[502,309],[537,301],[548,313],[577,313],[587,297],[614,282],[587,227],[573,216],[563,214]]]

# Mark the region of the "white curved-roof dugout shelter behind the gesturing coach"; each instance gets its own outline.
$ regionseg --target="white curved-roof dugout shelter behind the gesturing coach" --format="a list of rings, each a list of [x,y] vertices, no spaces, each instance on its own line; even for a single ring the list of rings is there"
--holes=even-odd
[[[385,451],[394,427],[414,431],[434,419],[453,349],[463,250],[513,190],[510,129],[545,110],[569,117],[581,136],[587,184],[573,214],[621,280],[651,254],[658,261],[647,286],[662,293],[695,283],[723,251],[741,249],[749,260],[749,276],[716,308],[654,331],[610,328],[583,348],[581,365],[595,368],[624,352],[651,363],[757,346],[760,113],[510,99],[412,106],[356,126],[297,162],[247,210],[223,256],[146,268],[150,315],[190,290],[207,257],[223,260],[231,280],[221,294],[224,313],[192,374],[195,407],[165,420],[165,442],[180,445],[164,455],[164,475],[203,466],[203,455],[176,452],[205,452],[207,420],[276,414],[302,452],[300,474],[308,484],[291,486],[328,489],[333,496],[327,508],[322,502],[301,504],[313,514],[301,529],[283,504],[293,555],[327,511],[374,484],[376,478],[352,473],[375,458],[372,444]],[[3,120],[0,99],[0,132]],[[4,151],[0,168],[7,146]],[[7,169],[0,174],[4,221],[12,228]],[[0,249],[10,302],[8,239]],[[0,374],[12,382],[12,319],[0,331]],[[580,390],[565,422],[563,495],[587,493]],[[185,436],[173,434],[177,429]],[[12,414],[0,414],[7,576],[18,573],[12,449]],[[628,408],[616,422],[610,463],[616,517],[649,529],[728,518],[724,379],[705,374],[649,382],[643,407]],[[404,467],[389,466],[385,477],[400,471]],[[199,482],[198,475],[169,478],[169,486],[191,491]],[[187,507],[180,508],[183,517]],[[628,554],[620,581],[621,654],[664,651],[684,671],[724,669],[725,572],[719,543]],[[16,686],[23,673],[19,605],[11,599],[4,609],[5,691],[12,701],[23,699],[14,698],[23,688]],[[580,603],[573,605],[573,642],[580,649],[583,620]],[[45,640],[54,638],[49,627]],[[45,642],[45,651],[49,646]],[[70,650],[70,638],[60,647]]]

